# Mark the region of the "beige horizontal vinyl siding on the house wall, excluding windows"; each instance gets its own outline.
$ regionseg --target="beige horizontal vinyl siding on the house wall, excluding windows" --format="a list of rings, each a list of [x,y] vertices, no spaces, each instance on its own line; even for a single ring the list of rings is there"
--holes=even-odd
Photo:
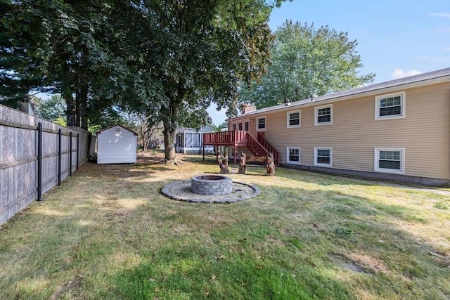
[[[450,84],[406,92],[406,117],[375,120],[375,96],[333,104],[333,124],[314,126],[314,106],[252,115],[266,116],[265,138],[286,162],[286,147],[301,147],[302,165],[314,166],[314,147],[333,148],[333,168],[374,171],[374,148],[405,148],[405,175],[450,179]],[[390,91],[392,93],[392,91]],[[316,106],[328,103],[317,103]],[[301,109],[301,127],[288,129],[286,112]],[[251,126],[250,126],[251,127]]]

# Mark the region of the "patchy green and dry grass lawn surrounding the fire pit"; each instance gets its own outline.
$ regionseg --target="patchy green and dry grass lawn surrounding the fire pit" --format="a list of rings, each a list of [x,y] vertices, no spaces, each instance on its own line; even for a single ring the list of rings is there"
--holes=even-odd
[[[449,299],[450,197],[289,169],[261,195],[192,204],[212,158],[83,164],[0,228],[0,299]]]

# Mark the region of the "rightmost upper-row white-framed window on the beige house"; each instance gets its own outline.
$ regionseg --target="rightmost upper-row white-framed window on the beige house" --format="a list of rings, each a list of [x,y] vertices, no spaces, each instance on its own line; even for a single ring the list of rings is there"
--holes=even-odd
[[[375,97],[375,119],[405,117],[405,92]]]

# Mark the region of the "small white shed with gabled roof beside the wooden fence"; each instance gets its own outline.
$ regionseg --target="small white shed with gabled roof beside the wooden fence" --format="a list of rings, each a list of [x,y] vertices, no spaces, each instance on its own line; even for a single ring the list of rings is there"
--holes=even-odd
[[[122,125],[97,132],[97,164],[136,163],[137,133]]]

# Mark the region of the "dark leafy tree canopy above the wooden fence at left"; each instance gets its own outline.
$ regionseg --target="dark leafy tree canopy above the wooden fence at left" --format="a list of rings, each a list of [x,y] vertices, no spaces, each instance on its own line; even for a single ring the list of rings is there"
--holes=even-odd
[[[122,53],[114,51],[127,41],[114,27],[127,18],[127,11],[115,2],[20,0],[3,4],[8,13],[1,16],[1,26],[8,29],[8,39],[2,39],[6,50],[0,48],[0,54],[11,56],[11,64],[6,65],[8,69],[2,64],[1,71],[13,74],[10,77],[17,86],[25,86],[21,91],[26,91],[30,74],[35,74],[39,79],[35,89],[63,95],[69,126],[86,129],[89,119],[101,122],[98,117],[103,115],[98,112],[115,104],[123,91],[120,79],[127,72]],[[2,81],[7,83],[6,79]],[[13,91],[12,84],[3,86]]]

